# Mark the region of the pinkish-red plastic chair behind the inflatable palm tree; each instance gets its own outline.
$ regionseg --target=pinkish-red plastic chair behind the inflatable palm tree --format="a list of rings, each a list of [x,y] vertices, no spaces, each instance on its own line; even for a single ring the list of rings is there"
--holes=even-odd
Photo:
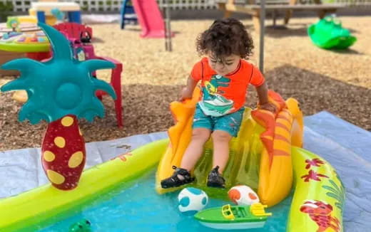
[[[123,64],[118,60],[114,60],[113,58],[96,56],[96,54],[94,53],[93,44],[91,44],[92,30],[90,27],[83,26],[78,23],[59,23],[58,25],[54,26],[54,28],[63,33],[64,36],[66,36],[66,38],[71,41],[76,58],[78,58],[78,53],[81,53],[81,51],[83,51],[84,59],[86,60],[108,60],[116,65],[116,68],[113,68],[111,72],[111,85],[117,96],[115,100],[117,124],[118,127],[122,127],[123,121],[121,106],[121,72],[123,70]],[[92,74],[94,77],[96,77],[95,72]],[[96,96],[101,100],[103,95],[106,94],[107,93],[101,90],[96,91]]]

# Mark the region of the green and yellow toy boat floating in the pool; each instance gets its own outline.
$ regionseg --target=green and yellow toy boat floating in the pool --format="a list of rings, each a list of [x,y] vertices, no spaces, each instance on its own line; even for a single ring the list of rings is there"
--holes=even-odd
[[[261,228],[265,225],[268,216],[272,213],[265,213],[260,203],[251,206],[230,206],[205,209],[195,214],[195,219],[200,221],[203,226],[216,229],[247,229]]]

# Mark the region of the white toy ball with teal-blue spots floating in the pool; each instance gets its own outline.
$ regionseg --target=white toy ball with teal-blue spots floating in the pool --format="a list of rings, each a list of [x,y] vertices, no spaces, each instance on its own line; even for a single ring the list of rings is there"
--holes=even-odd
[[[179,211],[182,213],[195,213],[205,208],[208,204],[208,195],[200,190],[192,187],[183,189],[178,195]]]

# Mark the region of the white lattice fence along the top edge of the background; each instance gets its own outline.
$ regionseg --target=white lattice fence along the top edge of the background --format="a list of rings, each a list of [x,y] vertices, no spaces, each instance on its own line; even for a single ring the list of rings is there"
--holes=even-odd
[[[31,1],[37,0],[0,0],[2,3],[10,1],[13,4],[13,9],[16,12],[28,11]],[[83,11],[89,12],[118,12],[121,8],[121,0],[59,0],[59,1],[75,1],[80,4]],[[156,0],[160,8],[166,7],[169,1],[171,9],[216,9],[216,1],[223,0]],[[225,0],[226,1],[226,0]],[[237,0],[239,2],[243,0]],[[371,0],[322,0],[324,2],[338,2],[349,5],[368,5],[371,6]],[[300,1],[299,1],[300,2]]]

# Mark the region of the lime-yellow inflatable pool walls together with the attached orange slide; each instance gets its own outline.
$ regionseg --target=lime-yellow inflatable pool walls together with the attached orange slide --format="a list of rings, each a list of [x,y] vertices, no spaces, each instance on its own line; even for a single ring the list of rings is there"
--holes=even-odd
[[[61,221],[68,213],[79,211],[97,199],[104,199],[103,196],[118,187],[126,191],[130,183],[151,172],[157,164],[156,187],[153,180],[153,192],[148,191],[145,196],[160,196],[155,188],[159,194],[176,190],[161,189],[159,183],[161,179],[171,176],[173,165],[179,166],[181,162],[190,141],[193,112],[199,95],[197,89],[192,100],[171,104],[176,125],[168,131],[170,140],[146,144],[87,169],[81,175],[78,186],[72,190],[63,191],[46,184],[18,196],[1,199],[0,231],[37,231],[48,223]],[[274,92],[270,92],[270,101],[279,109],[275,115],[265,110],[245,109],[238,137],[230,142],[230,159],[224,173],[228,180],[227,189],[205,188],[205,176],[212,163],[211,141],[205,144],[203,158],[193,170],[197,179],[193,185],[204,189],[212,198],[225,199],[229,187],[245,184],[258,191],[260,200],[268,206],[279,206],[293,191],[287,231],[342,231],[345,199],[342,182],[328,162],[300,148],[303,145],[303,114],[298,102],[293,98],[285,101]],[[167,196],[161,197],[167,199]],[[130,203],[130,197],[126,201]],[[111,208],[116,209],[120,204],[123,203],[118,202]],[[158,205],[161,206],[161,203]],[[145,209],[156,214],[151,204],[145,204]],[[114,211],[126,215],[133,210],[128,207],[121,212]],[[166,218],[169,225],[174,217],[177,217],[176,213]],[[146,223],[149,223],[147,228],[157,229],[143,216],[140,224]],[[125,224],[121,228],[126,228]]]

